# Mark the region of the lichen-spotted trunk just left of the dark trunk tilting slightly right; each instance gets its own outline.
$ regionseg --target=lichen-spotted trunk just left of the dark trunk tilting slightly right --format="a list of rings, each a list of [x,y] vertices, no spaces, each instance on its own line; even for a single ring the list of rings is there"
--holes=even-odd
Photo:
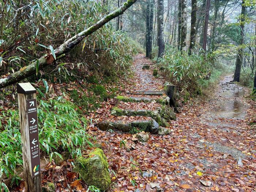
[[[181,0],[181,42],[180,49],[185,51],[187,39],[187,0]]]

